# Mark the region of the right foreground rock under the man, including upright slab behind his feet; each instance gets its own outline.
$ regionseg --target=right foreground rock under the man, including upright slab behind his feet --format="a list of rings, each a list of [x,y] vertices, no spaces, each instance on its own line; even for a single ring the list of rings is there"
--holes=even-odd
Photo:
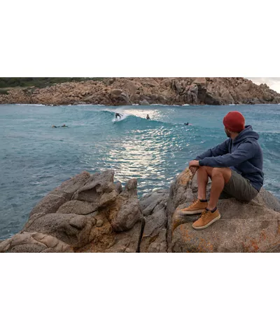
[[[251,202],[220,199],[221,219],[205,230],[194,230],[199,216],[181,216],[179,209],[197,198],[197,183],[186,169],[173,183],[167,204],[169,251],[276,252],[280,251],[280,202],[265,189]],[[209,192],[209,189],[208,189]]]

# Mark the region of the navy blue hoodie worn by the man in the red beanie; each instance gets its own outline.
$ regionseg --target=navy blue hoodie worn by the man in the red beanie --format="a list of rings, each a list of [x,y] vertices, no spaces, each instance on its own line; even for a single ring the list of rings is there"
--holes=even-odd
[[[196,157],[200,166],[230,167],[248,179],[260,191],[263,185],[262,149],[258,143],[259,135],[251,125],[232,140],[228,138],[221,145],[203,152]]]

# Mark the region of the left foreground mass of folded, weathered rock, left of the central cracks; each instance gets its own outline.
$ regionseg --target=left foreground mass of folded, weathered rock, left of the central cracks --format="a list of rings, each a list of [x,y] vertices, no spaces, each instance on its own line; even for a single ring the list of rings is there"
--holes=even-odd
[[[62,183],[34,207],[22,232],[1,242],[0,251],[138,251],[144,216],[137,180],[123,190],[113,176],[110,170],[83,172]]]

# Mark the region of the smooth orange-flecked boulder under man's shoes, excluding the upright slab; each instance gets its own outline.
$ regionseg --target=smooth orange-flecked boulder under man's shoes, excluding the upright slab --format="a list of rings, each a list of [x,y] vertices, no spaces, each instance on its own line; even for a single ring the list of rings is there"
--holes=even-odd
[[[218,209],[221,219],[205,230],[176,227],[172,252],[280,252],[280,213],[236,199],[220,200]]]

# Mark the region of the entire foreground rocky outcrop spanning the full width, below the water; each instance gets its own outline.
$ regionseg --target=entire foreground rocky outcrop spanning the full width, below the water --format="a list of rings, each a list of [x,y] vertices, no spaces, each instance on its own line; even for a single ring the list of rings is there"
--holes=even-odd
[[[209,194],[210,184],[207,187]],[[221,199],[221,219],[194,230],[197,216],[179,209],[197,198],[188,169],[170,190],[137,197],[114,172],[83,172],[47,194],[21,232],[0,242],[0,252],[279,252],[280,201],[262,189],[251,202]]]

